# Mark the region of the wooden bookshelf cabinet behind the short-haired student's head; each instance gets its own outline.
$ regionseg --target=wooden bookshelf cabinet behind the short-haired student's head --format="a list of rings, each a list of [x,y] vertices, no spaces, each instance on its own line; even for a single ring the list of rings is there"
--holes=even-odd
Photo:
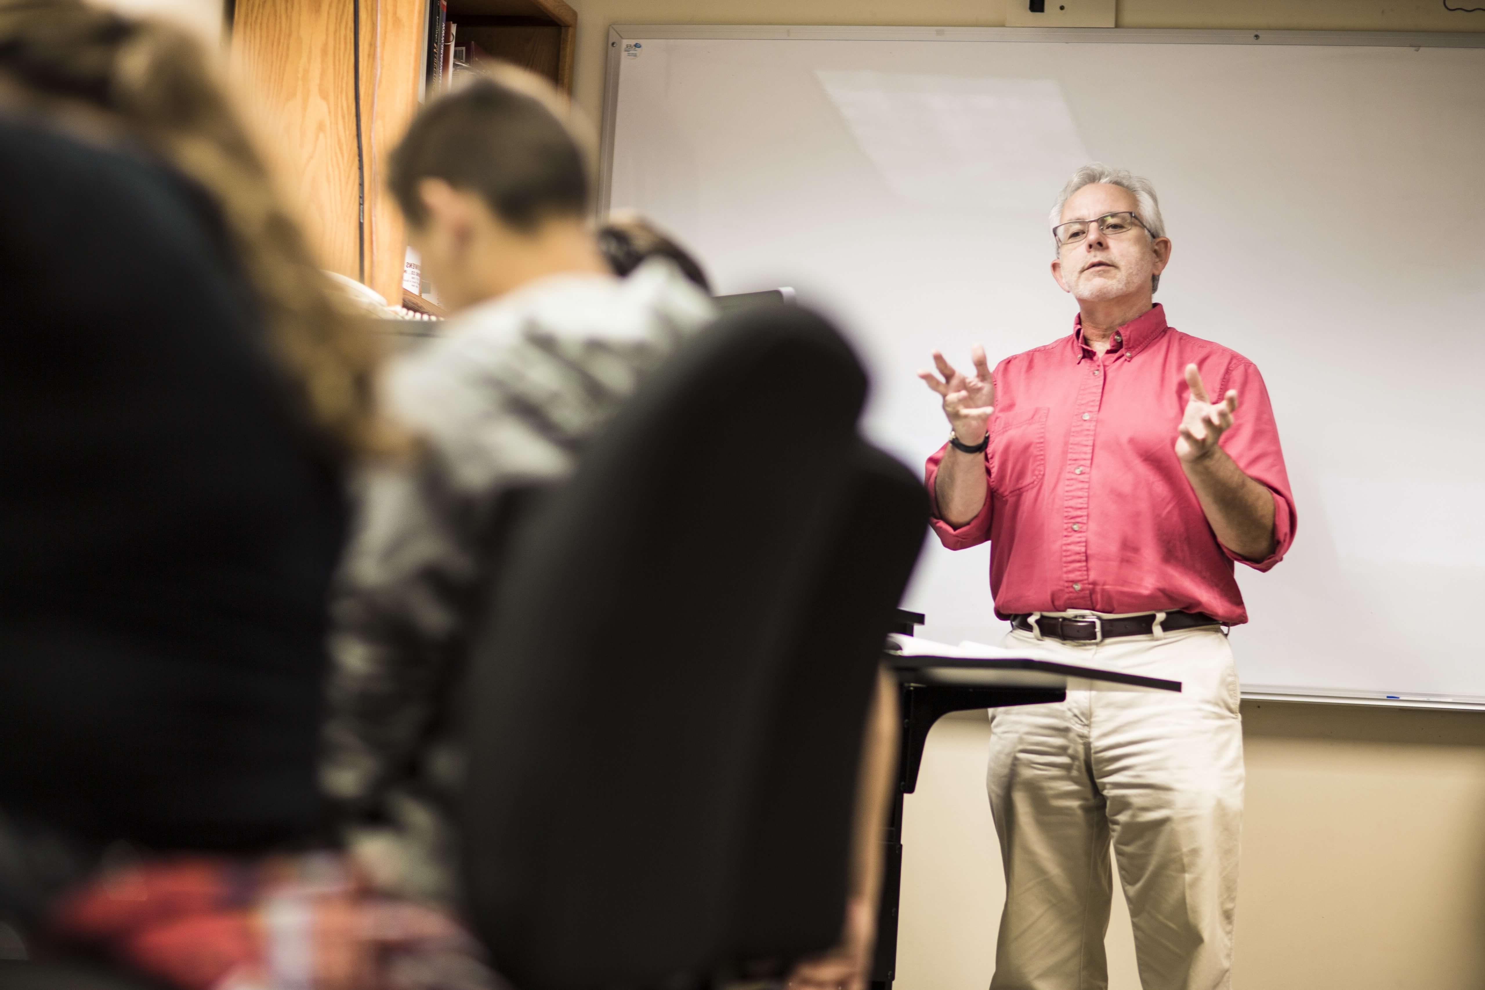
[[[417,113],[428,0],[235,0],[230,15],[233,71],[322,263],[399,298],[407,236],[386,156]],[[572,92],[578,13],[563,0],[450,0],[448,15],[456,45],[472,39]]]

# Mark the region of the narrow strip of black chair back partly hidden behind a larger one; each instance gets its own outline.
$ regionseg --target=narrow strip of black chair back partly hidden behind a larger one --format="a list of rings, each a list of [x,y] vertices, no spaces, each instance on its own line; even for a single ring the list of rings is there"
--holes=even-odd
[[[860,442],[827,566],[786,666],[742,852],[741,959],[783,963],[838,937],[857,779],[882,643],[928,530],[913,472]],[[872,837],[876,842],[876,836]]]

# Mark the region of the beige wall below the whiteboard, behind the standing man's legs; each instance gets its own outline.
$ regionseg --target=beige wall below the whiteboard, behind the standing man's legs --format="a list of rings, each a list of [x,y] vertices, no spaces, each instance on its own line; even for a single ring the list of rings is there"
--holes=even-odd
[[[1238,990],[1485,987],[1485,715],[1243,705]],[[901,990],[989,984],[1004,880],[989,723],[950,717],[907,799]],[[1109,989],[1138,990],[1115,894]]]

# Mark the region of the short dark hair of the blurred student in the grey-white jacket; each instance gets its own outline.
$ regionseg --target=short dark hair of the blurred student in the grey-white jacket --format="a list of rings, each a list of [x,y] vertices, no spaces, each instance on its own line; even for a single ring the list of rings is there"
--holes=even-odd
[[[588,209],[588,171],[572,132],[541,99],[495,79],[428,104],[392,150],[392,194],[414,227],[428,223],[417,191],[425,178],[478,193],[517,230]]]

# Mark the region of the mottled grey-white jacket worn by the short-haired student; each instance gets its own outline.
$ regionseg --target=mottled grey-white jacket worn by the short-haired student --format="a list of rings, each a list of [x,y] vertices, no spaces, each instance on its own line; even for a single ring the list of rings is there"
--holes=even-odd
[[[389,892],[453,899],[448,809],[460,754],[446,698],[511,485],[561,478],[585,438],[711,301],[668,261],[624,281],[555,276],[472,307],[399,359],[394,413],[423,441],[358,482],[359,518],[331,600],[321,778],[347,840]]]

